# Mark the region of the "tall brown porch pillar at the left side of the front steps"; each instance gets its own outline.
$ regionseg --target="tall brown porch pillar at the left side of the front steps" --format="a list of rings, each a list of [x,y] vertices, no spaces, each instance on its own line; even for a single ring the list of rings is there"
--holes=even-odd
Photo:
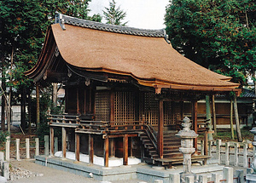
[[[158,154],[160,158],[164,157],[164,100],[159,100],[159,120],[158,120]]]

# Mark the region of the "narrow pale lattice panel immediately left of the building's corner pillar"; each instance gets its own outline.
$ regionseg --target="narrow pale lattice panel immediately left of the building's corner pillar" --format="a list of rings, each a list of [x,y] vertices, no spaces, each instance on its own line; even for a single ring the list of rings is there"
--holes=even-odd
[[[110,94],[108,91],[96,92],[95,99],[95,120],[109,121],[110,115]]]

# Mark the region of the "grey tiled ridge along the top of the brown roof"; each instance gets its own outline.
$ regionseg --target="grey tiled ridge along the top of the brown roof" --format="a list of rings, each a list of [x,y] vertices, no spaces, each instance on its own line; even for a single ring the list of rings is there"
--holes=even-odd
[[[135,36],[143,36],[143,37],[165,37],[167,39],[166,30],[151,30],[151,29],[138,29],[129,26],[116,26],[111,24],[104,24],[96,21],[83,20],[79,18],[75,18],[72,16],[68,16],[65,14],[60,14],[56,12],[55,14],[55,23],[60,23],[63,30],[65,30],[65,24],[73,25],[73,26],[82,26],[90,29],[96,29],[100,31],[110,31],[121,34],[129,34]]]

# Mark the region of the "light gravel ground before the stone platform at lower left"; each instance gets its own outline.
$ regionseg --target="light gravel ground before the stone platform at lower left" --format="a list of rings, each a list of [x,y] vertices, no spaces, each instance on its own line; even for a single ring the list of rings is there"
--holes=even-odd
[[[34,163],[34,160],[21,160],[21,161],[11,161],[10,164],[15,167],[19,167],[20,169],[26,169],[35,174],[44,174],[43,176],[34,176],[29,178],[22,178],[19,180],[9,180],[8,182],[15,183],[100,183],[103,181],[93,180],[90,178],[86,178],[77,174],[71,174],[65,171],[51,169],[49,167],[44,167]],[[106,181],[105,181],[106,182]],[[105,183],[104,182],[104,183]],[[118,181],[111,181],[112,183],[119,183]],[[125,183],[139,183],[143,182],[142,180],[125,180]],[[107,183],[107,182],[106,182]]]

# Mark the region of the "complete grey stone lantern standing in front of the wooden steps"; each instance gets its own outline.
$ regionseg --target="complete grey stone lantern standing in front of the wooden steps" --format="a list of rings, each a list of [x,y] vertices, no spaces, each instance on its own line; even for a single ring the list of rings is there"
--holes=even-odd
[[[183,129],[176,135],[181,138],[181,147],[179,147],[179,152],[183,153],[183,172],[180,173],[180,179],[181,182],[184,182],[186,176],[192,175],[196,178],[196,175],[191,172],[191,155],[195,152],[193,139],[195,139],[198,134],[195,134],[195,131],[190,129],[191,123],[189,117],[183,118],[182,126]]]

